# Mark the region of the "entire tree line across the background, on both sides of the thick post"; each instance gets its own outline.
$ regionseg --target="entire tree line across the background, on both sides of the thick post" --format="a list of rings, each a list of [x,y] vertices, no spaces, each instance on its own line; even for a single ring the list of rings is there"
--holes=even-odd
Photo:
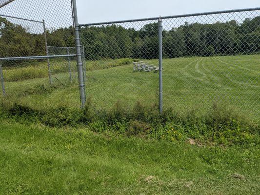
[[[140,29],[120,25],[89,26],[80,30],[85,58],[156,59],[158,23]],[[247,55],[260,53],[260,17],[211,24],[185,22],[163,29],[163,57]],[[74,47],[74,28],[48,29],[49,46]],[[43,34],[33,34],[21,25],[0,18],[0,57],[45,55]]]

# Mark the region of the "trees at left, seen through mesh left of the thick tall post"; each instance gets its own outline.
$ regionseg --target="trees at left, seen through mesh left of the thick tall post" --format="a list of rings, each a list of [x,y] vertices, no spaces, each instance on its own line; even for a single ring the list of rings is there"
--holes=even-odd
[[[40,33],[33,30],[0,17],[0,58],[46,55],[43,27]],[[49,46],[75,47],[72,26],[47,29],[46,34]]]

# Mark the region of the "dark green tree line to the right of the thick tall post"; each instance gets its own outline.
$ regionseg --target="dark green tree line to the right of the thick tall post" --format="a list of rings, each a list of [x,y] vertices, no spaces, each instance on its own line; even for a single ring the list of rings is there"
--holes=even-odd
[[[185,22],[163,30],[163,57],[247,55],[260,53],[260,17],[201,24]],[[140,30],[119,25],[81,29],[87,59],[158,58],[158,23]]]

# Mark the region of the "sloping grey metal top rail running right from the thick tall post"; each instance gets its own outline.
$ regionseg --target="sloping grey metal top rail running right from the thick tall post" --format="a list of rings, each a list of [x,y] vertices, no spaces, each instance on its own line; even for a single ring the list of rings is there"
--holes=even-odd
[[[174,18],[205,16],[205,15],[225,14],[225,13],[235,13],[235,12],[248,12],[248,11],[260,11],[260,7],[247,8],[247,9],[225,10],[225,11],[215,11],[215,12],[202,12],[202,13],[196,13],[196,14],[183,14],[183,15],[164,16],[164,17],[155,17],[155,18],[143,18],[143,19],[135,19],[135,20],[118,20],[118,21],[108,21],[108,22],[97,22],[97,23],[79,24],[79,26],[80,27],[82,27],[82,26],[96,26],[96,25],[105,25],[105,24],[117,24],[117,23],[147,21],[147,20],[159,20],[159,19],[174,19]]]

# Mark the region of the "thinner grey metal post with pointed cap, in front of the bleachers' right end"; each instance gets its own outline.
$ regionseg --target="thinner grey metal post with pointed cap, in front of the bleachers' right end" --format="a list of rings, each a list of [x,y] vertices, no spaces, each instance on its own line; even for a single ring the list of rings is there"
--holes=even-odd
[[[162,113],[162,20],[158,20],[158,38],[159,38],[159,108]]]

